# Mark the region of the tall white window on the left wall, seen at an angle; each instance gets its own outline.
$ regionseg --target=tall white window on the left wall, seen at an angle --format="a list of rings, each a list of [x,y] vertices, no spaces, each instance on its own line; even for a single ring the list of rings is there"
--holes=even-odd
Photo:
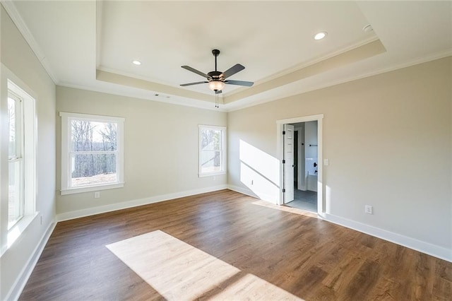
[[[35,213],[35,100],[8,80],[8,230]]]

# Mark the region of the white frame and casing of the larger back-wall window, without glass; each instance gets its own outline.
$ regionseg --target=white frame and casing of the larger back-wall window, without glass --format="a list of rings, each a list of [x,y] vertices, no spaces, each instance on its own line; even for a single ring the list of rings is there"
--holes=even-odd
[[[70,112],[60,112],[59,116],[61,117],[61,195],[124,187],[124,118]],[[74,119],[90,122],[112,122],[117,124],[117,182],[71,187],[71,122]]]

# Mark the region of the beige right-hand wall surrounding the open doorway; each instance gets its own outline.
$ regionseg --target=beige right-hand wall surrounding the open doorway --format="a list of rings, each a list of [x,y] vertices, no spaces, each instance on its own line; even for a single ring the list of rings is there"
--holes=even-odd
[[[263,193],[242,177],[241,141],[276,160],[277,120],[323,114],[326,213],[450,250],[451,71],[447,57],[230,112],[228,184]]]

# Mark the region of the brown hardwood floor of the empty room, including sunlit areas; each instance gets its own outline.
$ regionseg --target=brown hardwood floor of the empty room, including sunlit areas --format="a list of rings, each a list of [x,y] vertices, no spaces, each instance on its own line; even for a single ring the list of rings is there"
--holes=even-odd
[[[452,264],[230,190],[60,222],[20,300],[451,300]]]

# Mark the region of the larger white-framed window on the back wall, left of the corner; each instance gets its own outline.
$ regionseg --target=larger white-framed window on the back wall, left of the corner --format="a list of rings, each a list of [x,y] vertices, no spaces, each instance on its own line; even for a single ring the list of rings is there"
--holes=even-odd
[[[124,187],[124,118],[60,116],[61,194]]]

